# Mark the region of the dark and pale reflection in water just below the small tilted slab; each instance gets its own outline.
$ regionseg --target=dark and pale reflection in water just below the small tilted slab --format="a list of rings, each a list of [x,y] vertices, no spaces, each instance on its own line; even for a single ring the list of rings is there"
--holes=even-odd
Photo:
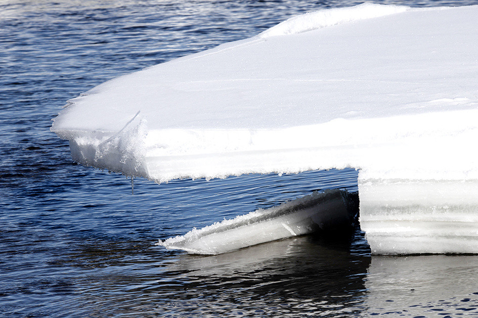
[[[319,244],[318,238],[300,236],[219,255],[181,254],[165,274],[181,273],[191,293],[196,284],[218,291],[239,284],[256,295],[273,291],[311,303],[324,296],[349,295],[347,301],[355,303],[354,295],[363,293],[370,263],[360,248],[350,241]]]

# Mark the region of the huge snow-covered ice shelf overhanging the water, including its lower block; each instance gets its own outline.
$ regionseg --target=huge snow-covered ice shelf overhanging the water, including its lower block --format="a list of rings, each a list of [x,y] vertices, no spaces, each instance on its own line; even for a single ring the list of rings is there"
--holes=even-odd
[[[52,131],[79,163],[157,182],[357,168],[372,251],[463,252],[424,230],[477,208],[476,187],[454,194],[478,182],[476,16],[478,6],[373,4],[298,16],[103,83],[71,99]],[[445,206],[451,223],[419,226],[414,211],[435,220]],[[399,240],[406,216],[416,227]],[[467,226],[449,233],[478,252]]]

